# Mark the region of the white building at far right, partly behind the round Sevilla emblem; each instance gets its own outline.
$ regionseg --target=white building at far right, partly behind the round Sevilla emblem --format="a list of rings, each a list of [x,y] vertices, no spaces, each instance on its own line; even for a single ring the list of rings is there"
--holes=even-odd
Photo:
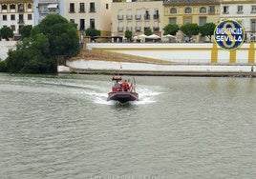
[[[235,19],[245,28],[245,42],[256,40],[256,1],[221,0],[220,20]]]

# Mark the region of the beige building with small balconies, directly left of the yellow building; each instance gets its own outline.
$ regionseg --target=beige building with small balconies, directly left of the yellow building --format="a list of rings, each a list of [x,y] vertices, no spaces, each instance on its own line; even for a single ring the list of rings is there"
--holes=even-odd
[[[162,1],[139,1],[112,3],[112,35],[125,36],[130,30],[139,36],[150,29],[156,35],[162,34]]]

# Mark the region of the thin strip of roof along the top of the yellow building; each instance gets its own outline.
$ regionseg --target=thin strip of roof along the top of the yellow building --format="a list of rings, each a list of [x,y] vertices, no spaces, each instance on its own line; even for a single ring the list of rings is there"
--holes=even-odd
[[[165,5],[212,5],[220,4],[220,0],[163,0]]]

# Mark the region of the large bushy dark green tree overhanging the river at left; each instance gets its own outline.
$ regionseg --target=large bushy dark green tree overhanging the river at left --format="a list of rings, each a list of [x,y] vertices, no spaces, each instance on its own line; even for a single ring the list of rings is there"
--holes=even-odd
[[[57,58],[75,56],[79,38],[75,25],[58,14],[50,14],[32,28],[31,36],[17,42],[16,50],[9,51],[7,69],[10,72],[53,73]]]

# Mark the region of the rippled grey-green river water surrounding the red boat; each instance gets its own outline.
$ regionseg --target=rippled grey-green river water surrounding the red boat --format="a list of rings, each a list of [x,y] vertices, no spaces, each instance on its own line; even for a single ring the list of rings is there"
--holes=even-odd
[[[255,178],[256,79],[111,77],[0,73],[1,178]]]

